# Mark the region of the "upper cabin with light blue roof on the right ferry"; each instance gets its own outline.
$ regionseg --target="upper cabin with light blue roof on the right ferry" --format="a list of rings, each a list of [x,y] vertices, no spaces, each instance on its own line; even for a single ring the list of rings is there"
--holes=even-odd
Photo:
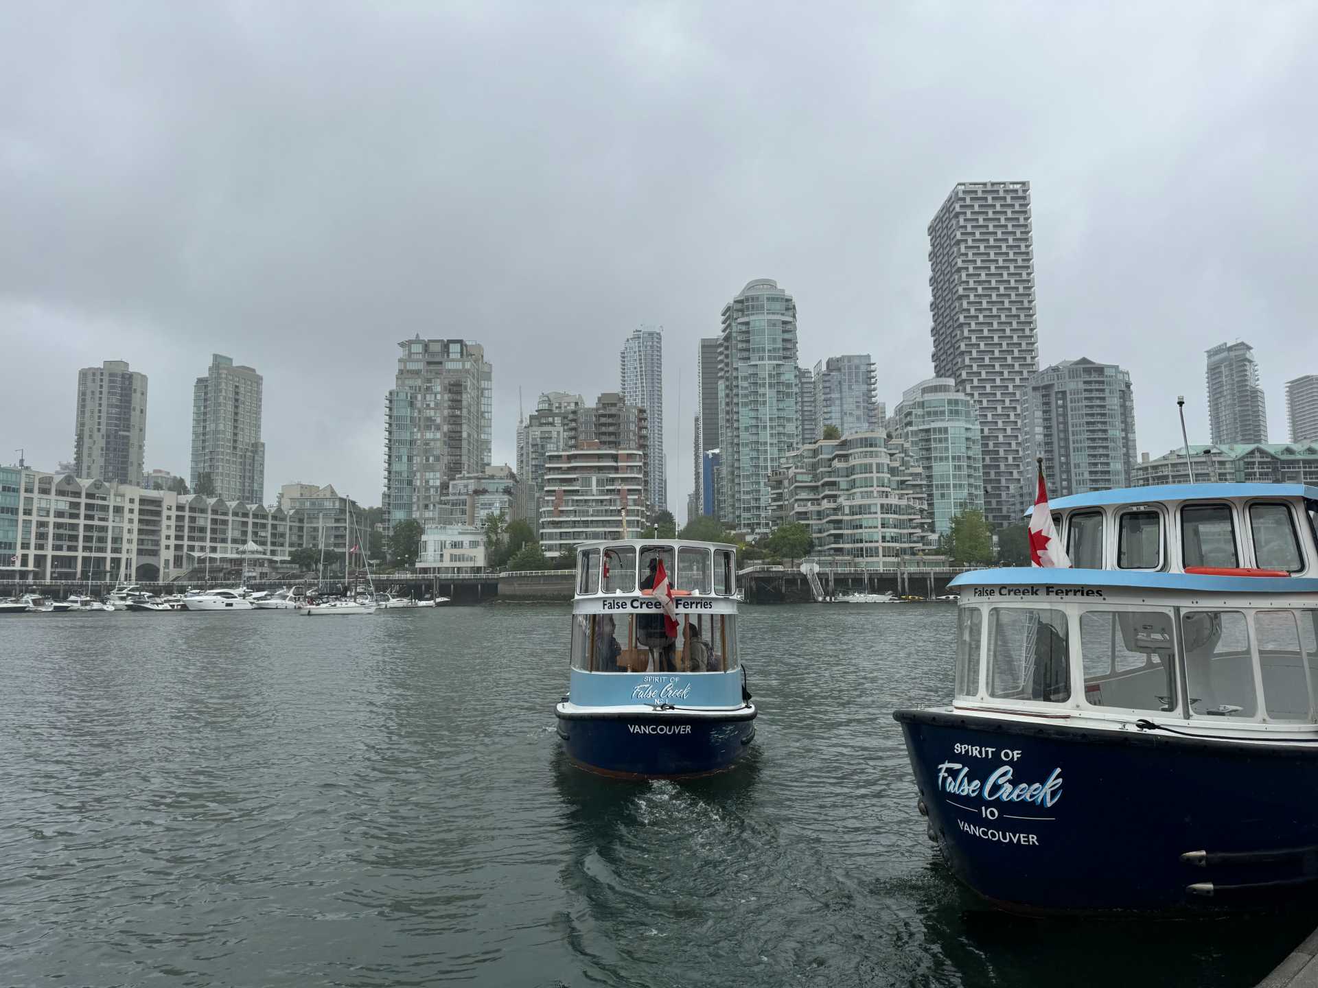
[[[1318,487],[1174,483],[1050,502],[1077,569],[1267,569],[1318,576]]]

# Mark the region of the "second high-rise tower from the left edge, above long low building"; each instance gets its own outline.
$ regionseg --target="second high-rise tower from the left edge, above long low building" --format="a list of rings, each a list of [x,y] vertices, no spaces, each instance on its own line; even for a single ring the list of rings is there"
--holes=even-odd
[[[203,474],[215,497],[260,505],[265,501],[265,443],[261,441],[261,375],[211,354],[206,377],[192,386],[192,491]]]

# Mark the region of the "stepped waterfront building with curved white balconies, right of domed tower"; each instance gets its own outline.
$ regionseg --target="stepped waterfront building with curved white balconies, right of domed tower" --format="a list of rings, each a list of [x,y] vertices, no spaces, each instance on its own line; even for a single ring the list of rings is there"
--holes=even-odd
[[[793,449],[768,485],[775,523],[804,524],[821,565],[895,570],[932,545],[923,473],[887,429]]]

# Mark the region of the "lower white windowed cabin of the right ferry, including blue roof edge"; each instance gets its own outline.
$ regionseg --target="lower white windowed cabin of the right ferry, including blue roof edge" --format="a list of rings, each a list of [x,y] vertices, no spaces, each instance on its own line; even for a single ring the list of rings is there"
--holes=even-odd
[[[1318,580],[998,569],[954,584],[954,707],[1214,730],[1318,725]]]

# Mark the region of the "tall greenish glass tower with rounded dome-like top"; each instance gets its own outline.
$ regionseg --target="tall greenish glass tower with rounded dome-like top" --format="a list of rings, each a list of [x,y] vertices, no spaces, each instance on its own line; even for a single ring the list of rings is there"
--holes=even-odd
[[[768,474],[801,441],[796,303],[778,282],[759,278],[724,306],[722,324],[718,516],[764,535],[774,527]]]

